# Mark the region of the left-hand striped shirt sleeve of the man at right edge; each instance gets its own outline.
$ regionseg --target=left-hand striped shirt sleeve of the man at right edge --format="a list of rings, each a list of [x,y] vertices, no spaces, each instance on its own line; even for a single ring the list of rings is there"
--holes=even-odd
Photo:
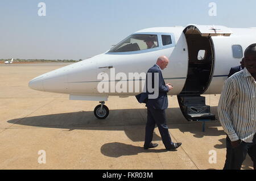
[[[228,78],[224,82],[221,92],[220,101],[218,102],[218,117],[224,129],[228,134],[231,141],[239,140],[237,133],[234,131],[233,121],[230,115],[232,114],[231,104],[236,96],[236,87],[232,79]]]

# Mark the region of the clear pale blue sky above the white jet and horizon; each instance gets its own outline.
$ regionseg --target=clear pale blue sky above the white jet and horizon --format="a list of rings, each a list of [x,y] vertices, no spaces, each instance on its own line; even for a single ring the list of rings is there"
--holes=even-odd
[[[255,10],[255,0],[1,0],[0,58],[84,60],[144,28],[256,27]]]

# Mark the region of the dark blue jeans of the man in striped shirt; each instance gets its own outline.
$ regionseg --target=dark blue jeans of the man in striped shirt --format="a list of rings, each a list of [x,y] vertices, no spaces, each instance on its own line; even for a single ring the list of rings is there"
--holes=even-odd
[[[254,170],[256,170],[256,134],[253,142],[242,141],[239,146],[233,148],[229,137],[226,137],[226,161],[224,170],[240,170],[247,153],[253,161]]]

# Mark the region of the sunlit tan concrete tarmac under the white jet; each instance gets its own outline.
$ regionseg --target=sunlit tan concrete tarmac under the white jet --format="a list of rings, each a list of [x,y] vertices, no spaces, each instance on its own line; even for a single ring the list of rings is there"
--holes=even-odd
[[[98,120],[98,102],[28,87],[30,79],[68,64],[0,64],[0,169],[223,168],[226,136],[220,123],[210,121],[202,132],[202,123],[184,119],[176,96],[168,96],[167,123],[172,140],[182,145],[165,150],[156,128],[153,142],[159,146],[144,150],[147,112],[135,97],[110,96],[109,116]],[[220,95],[205,97],[217,116]],[[253,169],[249,157],[242,169]]]

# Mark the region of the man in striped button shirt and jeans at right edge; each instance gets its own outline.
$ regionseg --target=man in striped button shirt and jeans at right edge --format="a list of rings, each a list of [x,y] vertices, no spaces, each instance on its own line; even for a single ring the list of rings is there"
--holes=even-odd
[[[241,169],[247,153],[256,169],[256,44],[245,50],[245,69],[226,79],[218,116],[227,134],[224,169]]]

